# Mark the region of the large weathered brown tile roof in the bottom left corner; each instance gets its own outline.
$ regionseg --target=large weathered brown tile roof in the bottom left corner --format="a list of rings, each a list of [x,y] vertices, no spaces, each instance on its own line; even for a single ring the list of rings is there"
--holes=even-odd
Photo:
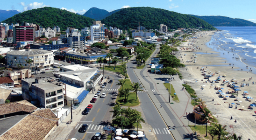
[[[0,140],[44,140],[50,130],[57,125],[58,118],[48,108],[29,114],[7,133],[0,137]]]

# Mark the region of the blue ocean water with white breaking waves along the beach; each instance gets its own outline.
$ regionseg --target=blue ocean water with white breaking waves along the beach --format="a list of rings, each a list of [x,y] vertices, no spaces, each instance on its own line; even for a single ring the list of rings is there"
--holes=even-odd
[[[251,68],[256,73],[256,27],[215,27],[216,32],[207,46],[219,52],[228,63],[243,71]],[[236,58],[240,59],[236,59]],[[246,69],[249,66],[249,69]]]

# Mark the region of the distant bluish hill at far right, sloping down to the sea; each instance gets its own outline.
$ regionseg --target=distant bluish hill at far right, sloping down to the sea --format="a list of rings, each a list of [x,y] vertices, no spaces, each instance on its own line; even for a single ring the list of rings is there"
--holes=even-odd
[[[192,16],[198,17],[213,26],[256,26],[256,23],[253,23],[251,21],[246,21],[243,19],[233,19],[226,16]]]

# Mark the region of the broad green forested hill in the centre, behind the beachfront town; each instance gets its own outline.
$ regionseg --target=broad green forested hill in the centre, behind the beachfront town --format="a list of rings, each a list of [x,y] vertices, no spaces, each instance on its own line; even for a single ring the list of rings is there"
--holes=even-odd
[[[102,20],[107,26],[121,29],[137,28],[138,22],[148,29],[158,29],[160,24],[167,25],[168,28],[215,29],[206,21],[194,16],[152,7],[124,8]]]

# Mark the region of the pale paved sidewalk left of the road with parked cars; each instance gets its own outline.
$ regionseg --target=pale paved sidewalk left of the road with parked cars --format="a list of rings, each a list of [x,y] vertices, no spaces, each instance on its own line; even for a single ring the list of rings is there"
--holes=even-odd
[[[104,79],[101,83],[106,82],[107,79]],[[98,91],[100,89],[100,85],[95,86],[95,91]],[[84,117],[81,112],[85,109],[86,106],[90,104],[90,101],[94,94],[92,94],[92,91],[90,91],[87,95],[87,97],[84,99],[84,101],[78,106],[77,109],[72,110],[72,122],[71,121],[71,113],[63,120],[57,128],[53,130],[53,132],[49,135],[49,137],[46,140],[65,140],[66,137],[71,133],[73,128],[78,124],[78,122]]]

